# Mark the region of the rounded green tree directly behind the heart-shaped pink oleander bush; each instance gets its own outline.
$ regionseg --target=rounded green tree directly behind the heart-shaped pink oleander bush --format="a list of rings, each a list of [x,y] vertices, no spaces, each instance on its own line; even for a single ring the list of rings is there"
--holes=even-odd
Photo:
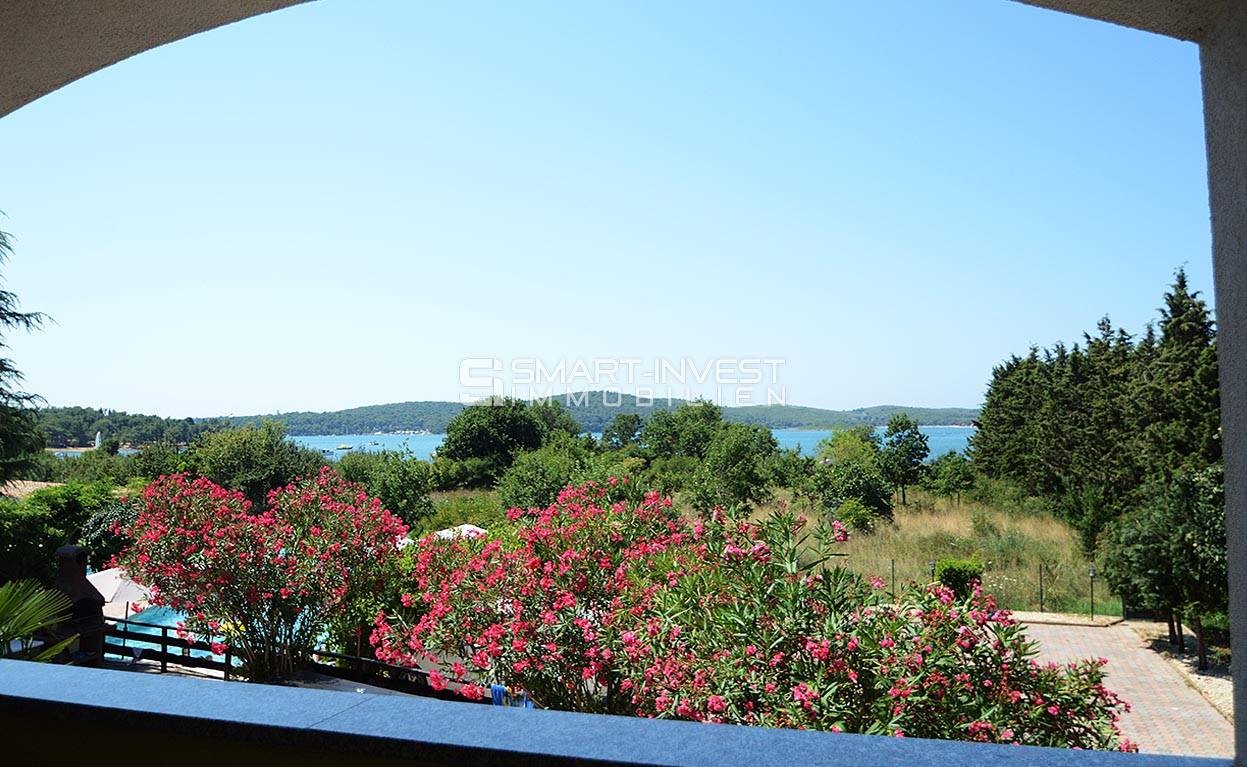
[[[269,490],[315,476],[325,465],[319,453],[287,440],[286,428],[271,420],[200,435],[188,464],[195,474],[238,490],[254,506],[264,505]]]

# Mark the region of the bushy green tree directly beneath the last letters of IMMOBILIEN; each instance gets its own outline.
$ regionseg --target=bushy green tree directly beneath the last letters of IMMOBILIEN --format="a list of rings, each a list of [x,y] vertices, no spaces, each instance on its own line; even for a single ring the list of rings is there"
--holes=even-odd
[[[722,424],[691,480],[695,509],[757,505],[771,498],[772,461],[778,444],[769,429]]]

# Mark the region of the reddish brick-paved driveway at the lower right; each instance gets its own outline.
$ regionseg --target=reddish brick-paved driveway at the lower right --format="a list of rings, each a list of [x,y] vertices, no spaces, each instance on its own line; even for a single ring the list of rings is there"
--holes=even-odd
[[[1140,751],[1233,757],[1233,726],[1130,626],[1026,629],[1039,641],[1040,660],[1109,658],[1105,686],[1134,707],[1121,730]]]

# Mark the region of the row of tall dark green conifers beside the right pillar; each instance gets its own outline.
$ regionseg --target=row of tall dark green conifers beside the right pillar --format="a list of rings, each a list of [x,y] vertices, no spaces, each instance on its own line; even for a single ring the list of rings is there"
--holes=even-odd
[[[993,370],[975,468],[1047,500],[1091,551],[1145,490],[1221,456],[1216,334],[1208,307],[1178,272],[1160,337],[1135,340],[1102,319],[1082,344],[1033,348]]]

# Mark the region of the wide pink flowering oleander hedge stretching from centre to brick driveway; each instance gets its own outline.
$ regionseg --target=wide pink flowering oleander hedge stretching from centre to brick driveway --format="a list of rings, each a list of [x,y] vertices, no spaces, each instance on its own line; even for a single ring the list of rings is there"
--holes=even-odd
[[[514,540],[419,543],[404,610],[377,616],[378,657],[431,661],[434,685],[470,698],[500,682],[575,711],[1132,748],[1102,661],[1034,662],[979,591],[893,602],[827,565],[838,523],[685,519],[592,484],[509,514]]]

